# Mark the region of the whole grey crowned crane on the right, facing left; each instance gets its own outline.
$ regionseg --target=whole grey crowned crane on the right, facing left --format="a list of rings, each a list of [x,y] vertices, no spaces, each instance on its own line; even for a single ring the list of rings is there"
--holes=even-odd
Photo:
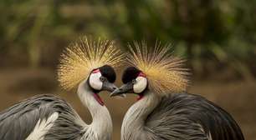
[[[125,113],[122,140],[243,140],[233,117],[205,97],[187,92],[186,60],[172,55],[171,44],[129,43],[124,84],[110,93],[134,93]]]

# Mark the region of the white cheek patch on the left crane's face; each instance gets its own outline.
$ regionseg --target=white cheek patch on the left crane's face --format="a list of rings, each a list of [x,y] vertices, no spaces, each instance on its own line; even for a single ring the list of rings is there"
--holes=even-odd
[[[102,82],[100,81],[101,73],[91,73],[89,78],[90,87],[93,87],[95,90],[101,90]]]

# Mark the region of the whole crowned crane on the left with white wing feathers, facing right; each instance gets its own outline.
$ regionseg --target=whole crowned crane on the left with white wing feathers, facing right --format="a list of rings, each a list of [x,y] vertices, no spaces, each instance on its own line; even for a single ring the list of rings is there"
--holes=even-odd
[[[113,41],[79,37],[61,54],[57,77],[64,90],[77,88],[92,122],[86,124],[61,97],[36,95],[0,112],[0,139],[110,140],[112,120],[99,93],[115,90],[114,67],[123,56]]]

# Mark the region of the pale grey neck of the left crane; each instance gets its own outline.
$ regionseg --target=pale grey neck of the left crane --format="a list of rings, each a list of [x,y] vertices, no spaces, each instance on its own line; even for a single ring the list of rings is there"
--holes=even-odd
[[[86,126],[84,133],[93,133],[96,139],[110,140],[112,134],[112,120],[105,105],[100,105],[95,99],[95,92],[85,83],[79,86],[78,95],[85,107],[90,111],[92,122]]]

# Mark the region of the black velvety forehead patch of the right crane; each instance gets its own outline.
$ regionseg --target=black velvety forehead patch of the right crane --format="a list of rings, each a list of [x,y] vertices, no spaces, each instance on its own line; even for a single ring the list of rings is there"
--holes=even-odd
[[[136,79],[140,74],[141,70],[137,69],[136,67],[127,67],[125,72],[122,76],[122,82],[127,83],[131,82],[133,79]]]

